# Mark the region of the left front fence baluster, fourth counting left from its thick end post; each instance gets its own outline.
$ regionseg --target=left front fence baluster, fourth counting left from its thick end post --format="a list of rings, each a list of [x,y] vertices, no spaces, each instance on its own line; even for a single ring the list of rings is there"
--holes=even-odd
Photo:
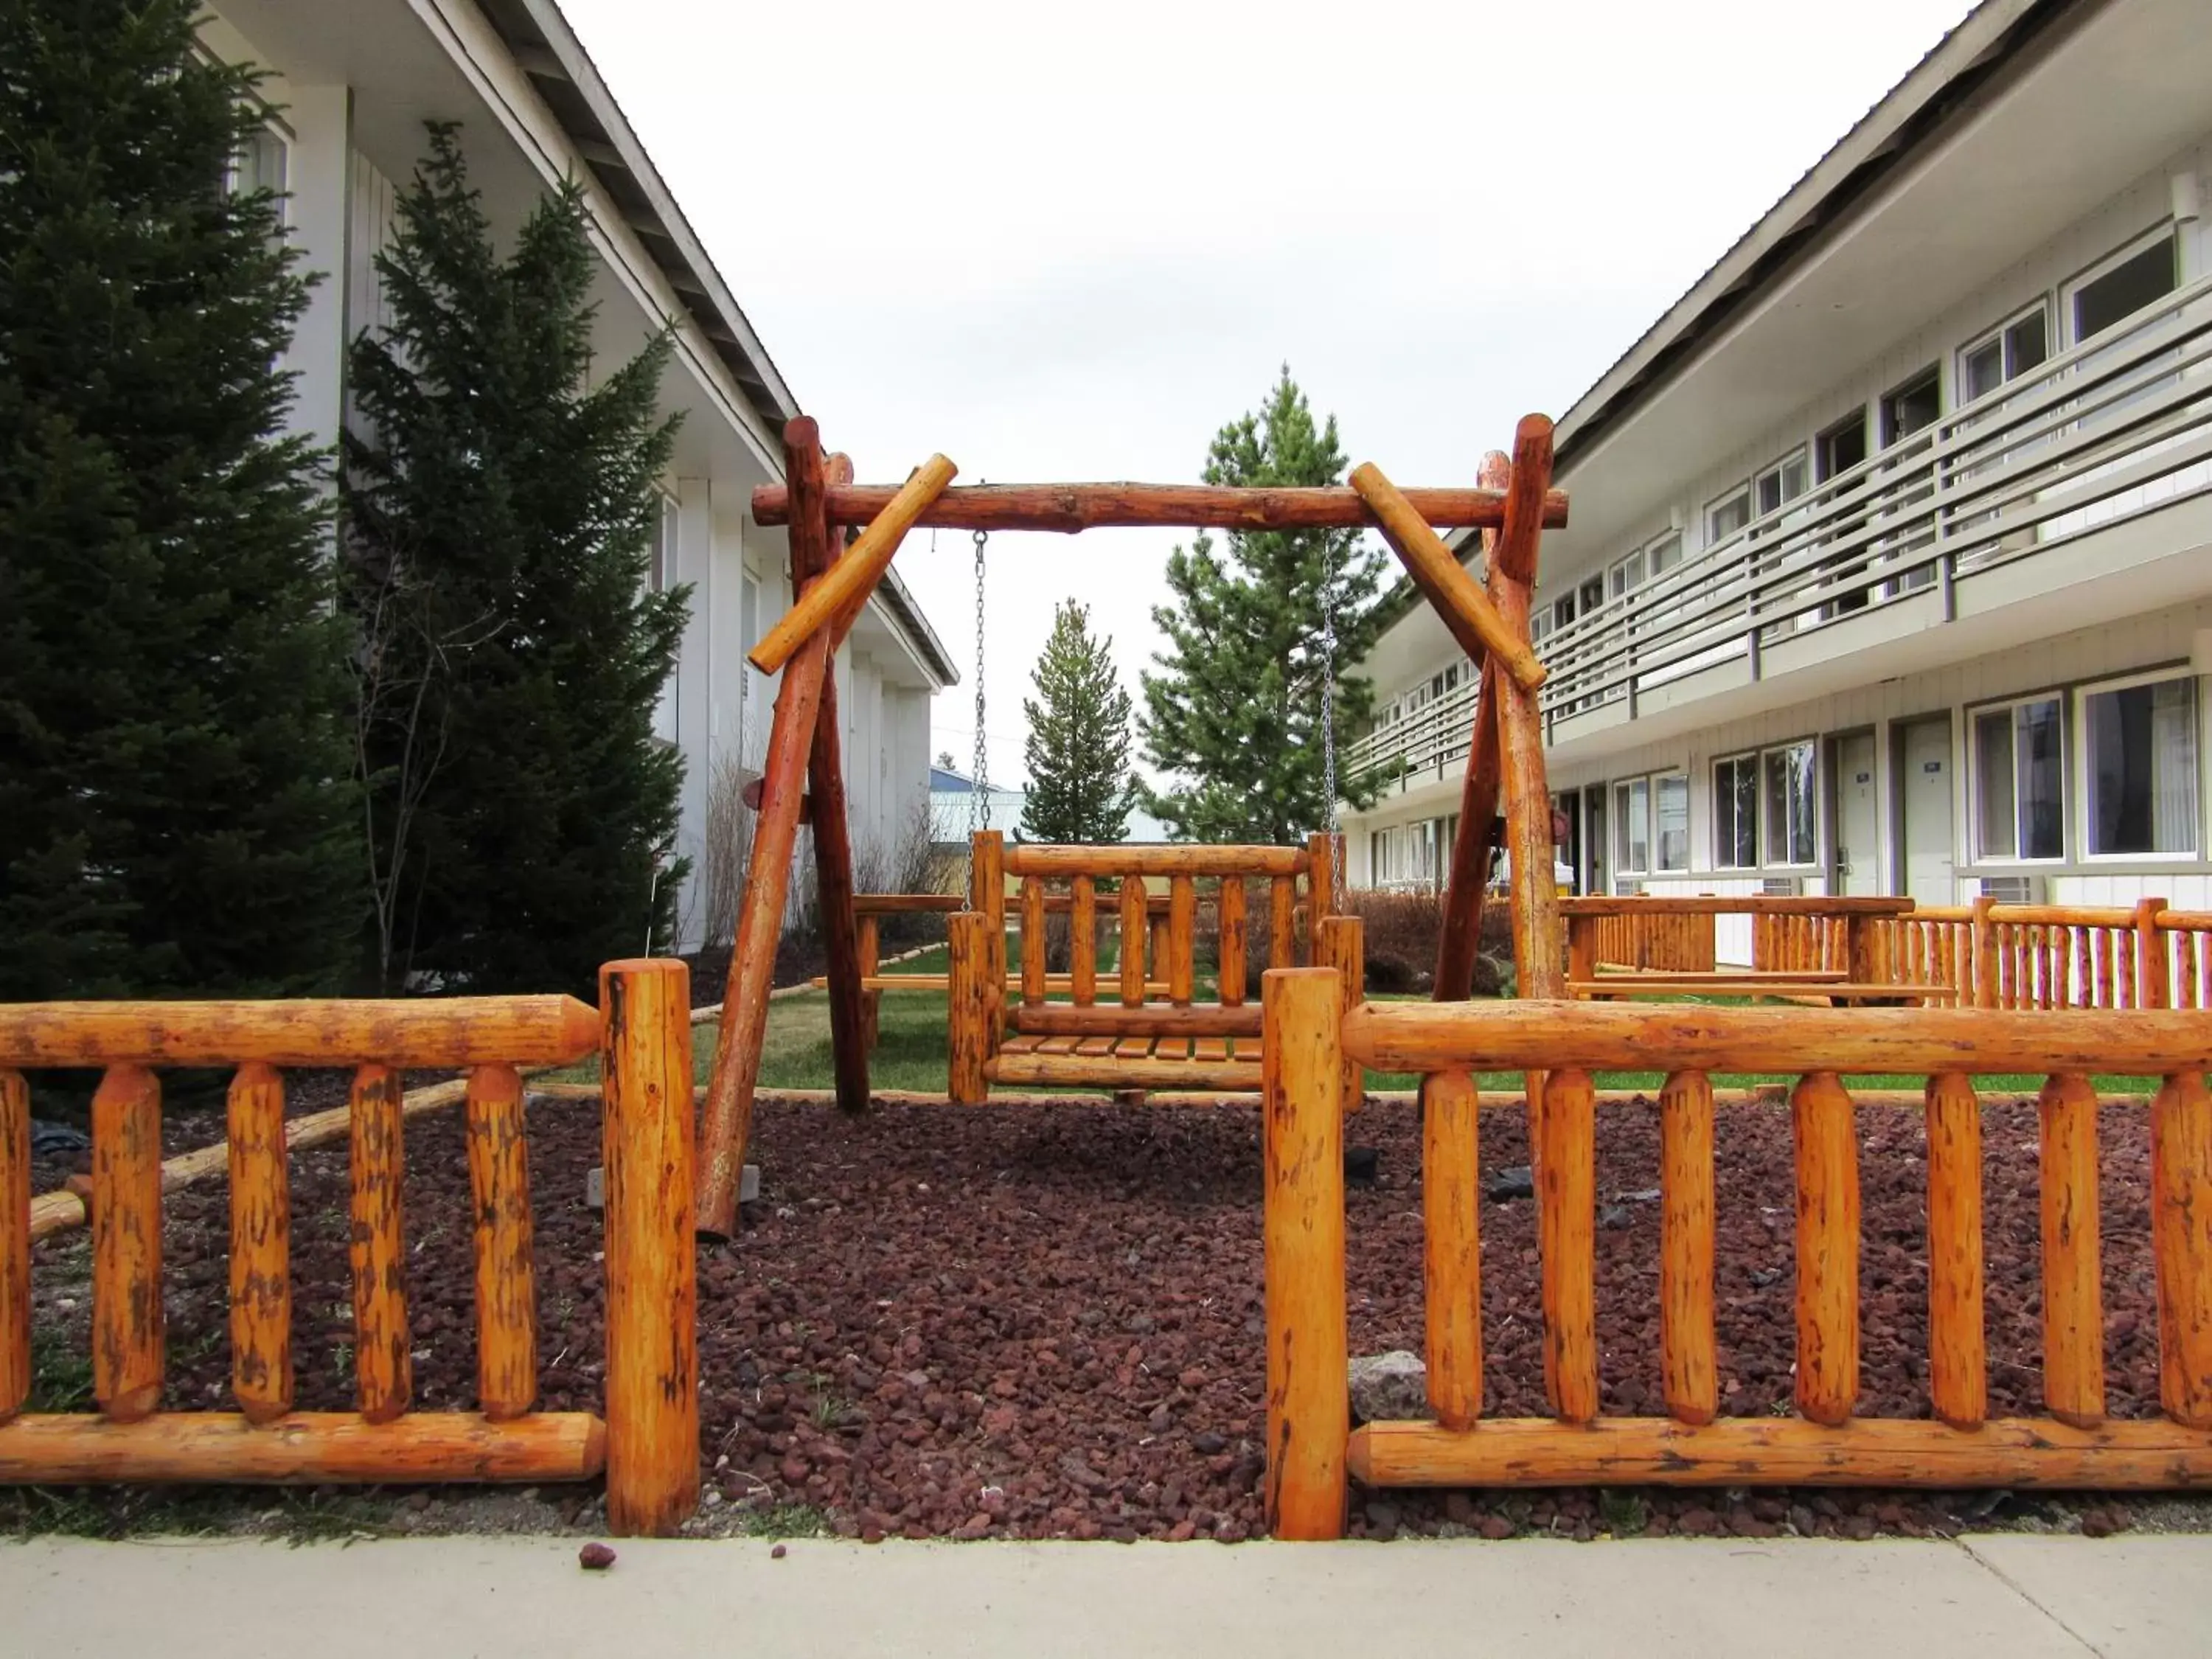
[[[111,1066],[93,1093],[93,1398],[111,1422],[161,1402],[161,1084]]]

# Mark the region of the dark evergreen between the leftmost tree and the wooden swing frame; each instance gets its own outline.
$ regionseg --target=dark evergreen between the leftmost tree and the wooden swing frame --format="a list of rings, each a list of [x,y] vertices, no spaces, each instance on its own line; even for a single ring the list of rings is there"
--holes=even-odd
[[[582,190],[502,257],[447,124],[376,265],[345,511],[378,973],[584,989],[668,942],[684,876],[653,710],[688,588],[646,591],[672,336],[593,365]]]

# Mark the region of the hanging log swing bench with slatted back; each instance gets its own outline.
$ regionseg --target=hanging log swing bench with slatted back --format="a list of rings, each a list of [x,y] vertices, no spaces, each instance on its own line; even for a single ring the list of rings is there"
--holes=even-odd
[[[1261,1011],[1245,967],[1252,889],[1263,894],[1267,964],[1298,962],[1303,916],[1305,960],[1338,964],[1345,998],[1356,1000],[1360,927],[1329,916],[1334,858],[1329,836],[1305,847],[1006,847],[995,832],[980,832],[971,909],[951,918],[951,1099],[980,1102],[993,1082],[1256,1088]],[[1018,883],[1018,978],[1004,971],[1009,878]],[[1148,878],[1166,880],[1164,909]],[[1102,896],[1099,883],[1115,883],[1115,891]],[[1046,971],[1044,951],[1044,918],[1060,905],[1068,914],[1066,975]],[[1217,1000],[1197,1002],[1208,914]],[[1102,918],[1119,918],[1113,982],[1099,973]],[[1051,1000],[1062,993],[1066,1002]]]

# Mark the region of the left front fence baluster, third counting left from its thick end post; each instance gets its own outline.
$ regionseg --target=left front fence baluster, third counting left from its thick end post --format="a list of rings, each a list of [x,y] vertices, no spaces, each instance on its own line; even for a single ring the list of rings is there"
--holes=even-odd
[[[248,1060],[230,1079],[230,1394],[248,1422],[292,1409],[292,1181],[283,1077]]]

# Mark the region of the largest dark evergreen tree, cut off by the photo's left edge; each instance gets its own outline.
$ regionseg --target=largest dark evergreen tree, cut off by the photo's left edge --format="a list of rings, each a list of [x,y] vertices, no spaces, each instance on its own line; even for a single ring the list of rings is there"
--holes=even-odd
[[[192,0],[0,0],[0,1000],[334,989],[361,929],[307,303]]]

